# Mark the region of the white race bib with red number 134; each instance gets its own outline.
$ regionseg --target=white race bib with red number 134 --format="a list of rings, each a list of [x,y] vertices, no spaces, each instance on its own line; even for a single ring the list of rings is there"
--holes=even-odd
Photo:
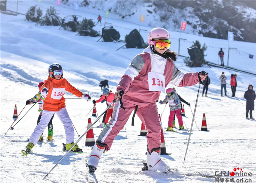
[[[148,90],[165,93],[165,76],[156,72],[148,72]]]

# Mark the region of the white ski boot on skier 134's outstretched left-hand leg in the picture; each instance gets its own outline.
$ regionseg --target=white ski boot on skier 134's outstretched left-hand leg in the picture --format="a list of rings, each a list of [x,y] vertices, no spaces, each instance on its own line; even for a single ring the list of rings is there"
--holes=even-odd
[[[96,141],[96,143],[92,147],[92,152],[90,153],[88,161],[87,161],[87,164],[89,166],[93,166],[95,168],[98,167],[100,157],[103,154],[106,146],[107,146],[107,144],[103,144],[99,141]]]

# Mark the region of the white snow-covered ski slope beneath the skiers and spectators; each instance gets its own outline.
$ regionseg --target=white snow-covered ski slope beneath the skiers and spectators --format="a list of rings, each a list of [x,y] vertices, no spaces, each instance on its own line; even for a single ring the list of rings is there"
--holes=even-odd
[[[46,6],[48,7],[48,5]],[[71,11],[71,10],[70,10]],[[66,12],[70,14],[71,12]],[[73,10],[72,10],[73,11]],[[86,15],[87,16],[87,15]],[[94,15],[93,15],[94,16]],[[121,36],[130,32],[131,27],[122,21],[113,24],[123,27]],[[34,106],[27,115],[9,131],[4,133],[12,124],[14,105],[17,104],[18,113],[25,106],[26,100],[38,92],[39,81],[47,79],[48,66],[58,62],[64,70],[64,77],[76,88],[88,92],[93,99],[101,95],[99,82],[108,79],[110,89],[115,91],[122,74],[132,58],[142,49],[120,49],[123,43],[96,42],[99,38],[75,36],[76,33],[58,30],[59,27],[35,27],[34,23],[24,22],[24,16],[8,16],[1,14],[1,63],[0,63],[0,170],[1,182],[44,182],[43,177],[65,154],[62,152],[62,142],[65,142],[64,128],[60,120],[53,119],[54,142],[36,144],[33,153],[29,156],[20,156],[26,142],[10,142],[9,140],[26,140],[33,132],[39,115],[38,106]],[[98,27],[100,30],[100,26]],[[150,28],[148,28],[150,29]],[[147,32],[143,38],[147,39]],[[173,33],[176,35],[175,33]],[[185,34],[182,34],[185,36]],[[177,33],[177,36],[179,34]],[[175,36],[173,37],[175,38]],[[176,37],[177,38],[177,37]],[[225,40],[194,37],[188,35],[187,39],[200,42],[212,42],[214,44],[227,44]],[[223,41],[223,42],[222,42]],[[177,41],[178,42],[178,41]],[[178,50],[177,42],[173,41],[174,50]],[[253,50],[255,44],[246,42],[234,42],[241,49]],[[186,46],[181,47],[186,50]],[[218,50],[215,49],[215,52]],[[254,50],[255,51],[255,50]],[[207,54],[211,54],[208,52]],[[215,54],[214,54],[215,55]],[[255,58],[255,57],[254,57]],[[245,61],[245,60],[244,60]],[[238,57],[234,57],[234,63],[243,68]],[[249,84],[256,86],[256,77],[237,73],[236,98],[220,97],[219,76],[222,71],[230,82],[229,70],[219,68],[188,68],[179,57],[177,67],[183,72],[197,72],[205,70],[209,72],[211,85],[208,97],[199,95],[196,116],[188,148],[185,164],[183,158],[188,141],[188,132],[167,133],[164,132],[165,145],[168,153],[162,155],[162,159],[175,168],[173,175],[164,175],[158,172],[140,172],[142,160],[146,160],[146,137],[140,134],[141,122],[135,118],[135,125],[131,126],[131,118],[125,128],[116,137],[111,149],[103,154],[96,176],[99,182],[214,182],[214,178],[198,176],[214,175],[215,171],[232,171],[240,167],[244,172],[252,172],[252,182],[256,182],[255,171],[255,121],[245,119],[244,91]],[[255,62],[248,62],[248,69],[255,68]],[[198,84],[193,87],[178,88],[178,94],[191,103],[194,110]],[[169,84],[168,87],[173,87]],[[201,89],[202,90],[202,89]],[[227,84],[228,96],[231,89]],[[66,94],[65,97],[75,97]],[[164,98],[162,93],[160,99]],[[92,102],[80,99],[67,99],[67,110],[79,135],[86,131],[88,115],[92,108]],[[23,116],[32,105],[26,106],[20,116]],[[100,114],[104,104],[97,104]],[[167,127],[169,109],[164,110],[164,105],[158,104],[159,113],[162,114],[163,127]],[[164,110],[164,111],[163,111]],[[209,132],[199,131],[203,113],[206,115]],[[183,118],[190,129],[192,113],[185,106],[186,117]],[[253,111],[255,117],[255,111]],[[92,117],[92,122],[94,122]],[[96,125],[100,123],[97,122]],[[176,124],[178,125],[178,123]],[[197,128],[197,126],[198,128]],[[95,140],[100,134],[100,128],[93,128]],[[44,133],[47,136],[47,132]],[[78,139],[75,132],[76,140]],[[78,145],[84,152],[90,152],[91,147],[84,146],[85,138]],[[87,169],[82,159],[88,154],[69,154],[47,177],[50,182],[87,182]],[[188,176],[190,175],[190,176]],[[235,179],[245,179],[239,177]]]

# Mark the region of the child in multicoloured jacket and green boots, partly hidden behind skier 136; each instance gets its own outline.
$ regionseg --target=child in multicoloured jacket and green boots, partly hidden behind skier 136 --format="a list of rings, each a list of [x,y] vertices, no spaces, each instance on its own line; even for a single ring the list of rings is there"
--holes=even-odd
[[[44,84],[44,82],[39,82],[38,84],[38,88],[40,88],[42,85]],[[38,125],[41,116],[42,116],[42,112],[43,112],[43,104],[44,104],[44,98],[41,96],[41,92],[39,91],[33,98],[29,99],[26,101],[26,105],[31,104],[31,103],[36,103],[36,101],[38,101],[37,103],[39,104],[39,109],[38,112],[40,112],[38,119],[37,119],[37,123],[36,125]],[[54,117],[54,114],[52,115],[52,118],[50,119],[50,122],[48,123],[48,136],[47,136],[47,140],[52,141],[52,135],[53,135],[53,127],[52,127],[52,119]],[[41,137],[39,138],[39,141],[43,140],[43,133],[41,135]]]

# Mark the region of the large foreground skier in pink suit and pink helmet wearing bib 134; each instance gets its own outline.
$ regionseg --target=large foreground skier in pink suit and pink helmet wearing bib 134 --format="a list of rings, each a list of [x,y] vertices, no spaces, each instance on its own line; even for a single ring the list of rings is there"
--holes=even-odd
[[[174,65],[176,53],[170,51],[170,34],[164,28],[154,28],[148,35],[148,46],[137,55],[127,67],[117,88],[112,118],[101,131],[87,166],[89,172],[94,172],[99,164],[103,151],[109,150],[120,130],[124,128],[133,110],[146,126],[147,133],[147,164],[148,170],[170,172],[170,167],[161,161],[161,124],[156,107],[161,91],[165,93],[165,86],[171,81],[176,86],[192,86],[205,79],[200,72],[182,73]],[[120,92],[124,92],[123,106],[120,107]],[[134,149],[134,151],[136,151]]]

